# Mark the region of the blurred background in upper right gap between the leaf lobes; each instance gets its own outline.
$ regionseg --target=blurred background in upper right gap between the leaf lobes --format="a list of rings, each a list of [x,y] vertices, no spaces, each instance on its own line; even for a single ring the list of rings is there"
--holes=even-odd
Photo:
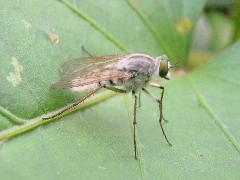
[[[208,62],[240,38],[240,1],[208,0],[195,27],[188,68]]]

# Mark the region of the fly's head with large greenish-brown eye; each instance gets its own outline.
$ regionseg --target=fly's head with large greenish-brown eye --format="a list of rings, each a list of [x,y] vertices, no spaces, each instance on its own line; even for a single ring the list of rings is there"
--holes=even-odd
[[[169,80],[169,78],[167,77],[167,74],[168,74],[169,69],[172,68],[173,65],[171,65],[171,63],[169,62],[168,57],[166,55],[157,57],[157,60],[159,60],[158,75],[161,78]]]

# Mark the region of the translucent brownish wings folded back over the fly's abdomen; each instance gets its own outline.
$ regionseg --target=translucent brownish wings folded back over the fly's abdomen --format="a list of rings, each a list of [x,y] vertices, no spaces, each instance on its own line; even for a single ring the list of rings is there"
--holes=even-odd
[[[71,60],[62,65],[62,80],[53,85],[54,88],[86,89],[84,86],[94,85],[109,80],[128,79],[131,74],[126,70],[118,70],[115,66],[127,55],[100,57],[84,57]]]

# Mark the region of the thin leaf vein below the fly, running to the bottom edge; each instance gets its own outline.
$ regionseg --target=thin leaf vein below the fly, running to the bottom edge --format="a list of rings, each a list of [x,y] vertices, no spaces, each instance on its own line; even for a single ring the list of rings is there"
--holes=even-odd
[[[132,133],[132,137],[133,137],[133,116],[132,116],[132,111],[130,108],[130,102],[129,102],[129,97],[128,96],[124,96],[124,103],[125,103],[125,107],[127,109],[127,113],[128,113],[128,119],[129,119],[129,123],[130,123],[130,127],[131,127],[131,133]],[[137,129],[137,127],[136,127]],[[140,139],[138,136],[138,131],[136,131],[136,141],[137,141],[137,155],[139,158],[139,167],[140,167],[140,171],[141,171],[141,177],[143,180],[147,179],[145,176],[145,167],[144,167],[144,158],[143,158],[143,154],[142,154],[142,150],[141,150],[141,143],[140,143]]]

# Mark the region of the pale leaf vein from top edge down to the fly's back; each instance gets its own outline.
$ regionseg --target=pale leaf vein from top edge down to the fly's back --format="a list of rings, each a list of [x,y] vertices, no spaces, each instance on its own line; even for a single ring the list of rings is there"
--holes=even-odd
[[[105,30],[101,25],[99,25],[94,19],[89,17],[87,14],[85,14],[83,11],[80,11],[76,7],[74,7],[73,4],[68,2],[67,0],[60,0],[65,6],[67,6],[70,10],[72,10],[74,13],[76,13],[79,17],[87,21],[89,24],[92,25],[97,31],[102,33],[103,36],[105,36],[110,42],[112,42],[116,47],[121,49],[124,52],[128,52],[128,49],[120,42],[118,41],[113,35],[111,35],[107,30]]]

